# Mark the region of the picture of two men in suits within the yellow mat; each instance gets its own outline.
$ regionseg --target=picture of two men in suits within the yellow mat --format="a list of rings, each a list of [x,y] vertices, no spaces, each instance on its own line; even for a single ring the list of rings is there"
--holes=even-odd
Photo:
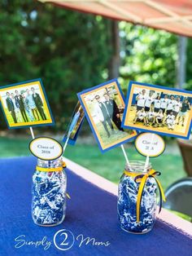
[[[124,102],[115,89],[103,88],[94,92],[89,100],[90,114],[104,143],[113,143],[128,136],[121,127]]]

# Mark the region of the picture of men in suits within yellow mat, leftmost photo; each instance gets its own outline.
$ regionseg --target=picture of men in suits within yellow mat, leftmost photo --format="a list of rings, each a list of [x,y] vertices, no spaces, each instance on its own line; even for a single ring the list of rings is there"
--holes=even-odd
[[[6,92],[5,108],[11,122],[33,122],[46,120],[46,113],[40,93],[34,87]]]

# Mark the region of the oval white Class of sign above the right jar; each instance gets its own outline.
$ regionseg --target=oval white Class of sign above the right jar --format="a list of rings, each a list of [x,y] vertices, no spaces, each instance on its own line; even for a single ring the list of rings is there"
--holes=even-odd
[[[164,152],[165,143],[161,136],[146,132],[137,136],[135,148],[145,157],[158,157]]]

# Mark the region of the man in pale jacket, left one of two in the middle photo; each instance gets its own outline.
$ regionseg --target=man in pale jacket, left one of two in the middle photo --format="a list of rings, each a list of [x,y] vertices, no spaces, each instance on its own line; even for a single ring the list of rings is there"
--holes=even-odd
[[[106,104],[104,104],[104,102],[101,101],[100,96],[96,95],[95,99],[98,102],[98,104],[95,105],[96,115],[97,115],[99,121],[102,122],[103,127],[106,130],[106,132],[107,132],[107,136],[110,137],[111,134],[110,134],[110,132],[108,130],[107,124],[110,126],[111,130],[114,130],[114,128],[112,126],[110,114],[108,113]]]

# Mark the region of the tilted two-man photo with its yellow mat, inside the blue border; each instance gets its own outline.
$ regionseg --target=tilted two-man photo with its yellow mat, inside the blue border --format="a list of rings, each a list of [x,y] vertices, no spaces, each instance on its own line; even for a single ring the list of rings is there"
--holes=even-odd
[[[115,82],[81,94],[81,99],[103,149],[137,135],[121,127],[124,99]]]

